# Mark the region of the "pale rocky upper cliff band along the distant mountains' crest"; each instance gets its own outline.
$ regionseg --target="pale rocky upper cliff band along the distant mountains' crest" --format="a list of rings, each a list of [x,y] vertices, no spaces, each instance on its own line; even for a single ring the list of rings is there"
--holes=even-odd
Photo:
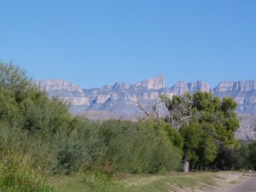
[[[48,92],[49,96],[59,96],[65,101],[72,102],[75,106],[103,104],[108,100],[131,100],[143,102],[157,99],[160,94],[183,95],[189,91],[197,90],[212,92],[219,97],[232,96],[238,103],[238,113],[256,113],[256,80],[222,81],[216,87],[211,88],[209,84],[198,80],[195,82],[178,81],[172,87],[166,87],[163,75],[155,78],[145,79],[135,84],[115,83],[104,85],[102,88],[83,89],[77,84],[69,83],[65,79],[49,79],[35,81],[42,90]],[[255,92],[255,93],[254,93]],[[255,105],[256,107],[256,105]],[[84,109],[85,111],[88,108]],[[108,110],[107,110],[108,111]],[[74,111],[74,113],[76,113]]]

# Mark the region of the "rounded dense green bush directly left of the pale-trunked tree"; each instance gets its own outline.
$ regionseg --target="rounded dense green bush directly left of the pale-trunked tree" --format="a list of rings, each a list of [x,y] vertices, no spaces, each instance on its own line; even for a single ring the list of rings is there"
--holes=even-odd
[[[164,128],[153,121],[108,120],[98,127],[105,169],[154,173],[179,166],[181,150],[173,146]]]

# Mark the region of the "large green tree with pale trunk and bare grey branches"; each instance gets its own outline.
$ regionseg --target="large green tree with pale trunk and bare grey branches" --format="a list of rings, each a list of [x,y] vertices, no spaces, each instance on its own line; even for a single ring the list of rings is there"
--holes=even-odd
[[[170,125],[180,130],[183,136],[184,171],[188,171],[189,160],[206,166],[219,154],[219,148],[230,145],[235,148],[238,145],[235,132],[239,120],[235,111],[236,102],[231,97],[220,100],[212,93],[197,91],[193,95],[187,92],[183,96],[173,96],[172,99],[166,95],[160,98],[169,112],[166,119],[170,119]],[[196,119],[199,125],[192,124],[189,128],[191,119]],[[181,129],[183,125],[185,128]],[[187,136],[189,133],[191,137]],[[187,143],[191,146],[187,146]]]

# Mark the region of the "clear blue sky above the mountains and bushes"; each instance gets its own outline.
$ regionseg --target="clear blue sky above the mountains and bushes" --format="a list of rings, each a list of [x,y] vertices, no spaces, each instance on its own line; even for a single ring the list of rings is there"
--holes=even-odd
[[[83,88],[256,79],[255,0],[1,0],[0,61]]]

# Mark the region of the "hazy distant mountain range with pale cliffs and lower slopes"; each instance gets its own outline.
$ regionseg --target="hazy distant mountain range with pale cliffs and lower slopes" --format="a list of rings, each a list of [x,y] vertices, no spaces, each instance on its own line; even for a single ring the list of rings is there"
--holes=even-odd
[[[179,81],[168,88],[163,75],[136,84],[115,83],[92,89],[82,89],[79,85],[64,79],[40,80],[36,81],[36,84],[42,90],[46,90],[50,97],[58,96],[64,101],[71,102],[72,113],[83,113],[89,119],[143,117],[143,112],[136,104],[142,103],[147,106],[149,102],[159,99],[160,94],[174,96],[182,95],[185,91],[193,93],[201,90],[212,92],[221,98],[231,96],[238,103],[236,111],[241,117],[241,132],[237,132],[237,137],[256,138],[253,131],[254,123],[256,125],[256,80],[223,81],[215,88],[211,88],[203,81]]]

